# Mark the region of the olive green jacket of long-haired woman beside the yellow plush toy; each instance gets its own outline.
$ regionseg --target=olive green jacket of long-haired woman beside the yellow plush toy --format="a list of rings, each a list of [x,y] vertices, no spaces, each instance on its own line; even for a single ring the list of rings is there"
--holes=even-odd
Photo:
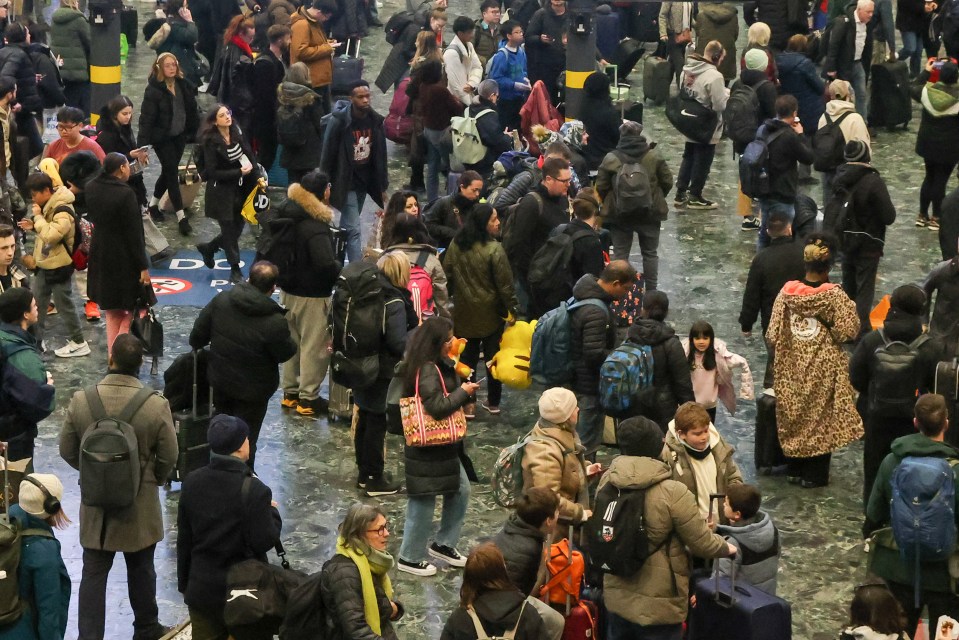
[[[443,256],[447,287],[453,298],[453,331],[461,338],[485,338],[516,315],[513,270],[503,245],[477,242],[469,251],[450,242]]]

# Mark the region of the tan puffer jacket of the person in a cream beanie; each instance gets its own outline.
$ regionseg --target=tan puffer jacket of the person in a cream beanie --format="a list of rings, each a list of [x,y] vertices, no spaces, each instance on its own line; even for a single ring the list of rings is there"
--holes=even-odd
[[[559,518],[579,524],[589,507],[585,449],[569,425],[537,422],[523,452],[523,486],[548,487],[559,495]]]

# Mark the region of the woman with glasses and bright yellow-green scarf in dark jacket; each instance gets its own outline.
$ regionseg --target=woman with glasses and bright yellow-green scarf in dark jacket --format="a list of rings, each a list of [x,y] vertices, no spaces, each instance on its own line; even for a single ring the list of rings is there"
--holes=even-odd
[[[393,624],[403,605],[393,599],[386,550],[390,525],[374,505],[354,502],[340,524],[336,555],[323,565],[320,593],[326,609],[326,634],[332,640],[396,640]]]

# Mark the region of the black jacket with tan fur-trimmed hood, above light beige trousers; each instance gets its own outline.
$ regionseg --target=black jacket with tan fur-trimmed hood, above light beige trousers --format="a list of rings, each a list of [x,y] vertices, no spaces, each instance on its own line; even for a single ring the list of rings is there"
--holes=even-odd
[[[303,298],[328,298],[343,268],[333,254],[333,210],[298,183],[291,184],[286,195],[277,217],[296,220],[297,268],[293,274],[280,274],[283,291]]]

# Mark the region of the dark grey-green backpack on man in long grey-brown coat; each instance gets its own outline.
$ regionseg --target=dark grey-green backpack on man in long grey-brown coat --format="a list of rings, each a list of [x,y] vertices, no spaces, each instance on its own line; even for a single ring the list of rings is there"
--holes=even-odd
[[[93,423],[80,438],[80,501],[105,511],[125,509],[140,492],[140,449],[130,422],[156,391],[139,389],[116,416],[107,414],[96,385],[83,390]]]

